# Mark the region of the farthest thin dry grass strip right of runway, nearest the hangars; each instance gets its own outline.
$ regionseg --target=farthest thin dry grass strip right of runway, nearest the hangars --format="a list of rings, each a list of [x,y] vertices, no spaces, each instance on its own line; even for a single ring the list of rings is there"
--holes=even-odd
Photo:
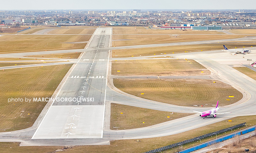
[[[192,30],[159,30],[146,29],[143,26],[114,26],[113,34],[224,34],[217,31],[192,31]]]

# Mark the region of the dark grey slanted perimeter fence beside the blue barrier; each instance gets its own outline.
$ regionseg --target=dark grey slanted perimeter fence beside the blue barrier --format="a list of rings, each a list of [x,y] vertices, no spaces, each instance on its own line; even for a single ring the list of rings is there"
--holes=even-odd
[[[230,131],[231,129],[243,127],[245,124],[246,124],[246,122],[241,123],[241,124],[237,124],[233,127],[225,128],[225,129],[222,129],[222,130],[219,130],[219,131],[216,131],[216,132],[212,132],[212,133],[208,133],[208,134],[205,134],[205,135],[197,136],[195,138],[188,139],[188,140],[185,140],[185,141],[182,141],[182,142],[178,142],[178,143],[174,143],[174,144],[171,144],[171,145],[168,145],[168,146],[164,146],[164,147],[161,147],[161,148],[150,150],[150,151],[147,151],[147,152],[144,152],[144,153],[156,153],[156,152],[159,152],[159,151],[164,151],[164,150],[167,150],[167,149],[171,149],[171,148],[174,148],[174,147],[177,147],[177,146],[180,146],[180,145],[184,145],[184,144],[187,144],[187,143],[198,141],[198,139],[204,139],[204,138],[207,138],[209,136],[215,136],[216,134],[218,135],[220,133]]]

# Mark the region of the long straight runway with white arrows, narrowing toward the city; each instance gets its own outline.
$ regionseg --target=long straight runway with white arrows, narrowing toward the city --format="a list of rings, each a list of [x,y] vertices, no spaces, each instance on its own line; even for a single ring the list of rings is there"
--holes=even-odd
[[[111,28],[95,31],[92,51],[82,53],[32,139],[102,138],[109,50],[97,49],[110,35]]]

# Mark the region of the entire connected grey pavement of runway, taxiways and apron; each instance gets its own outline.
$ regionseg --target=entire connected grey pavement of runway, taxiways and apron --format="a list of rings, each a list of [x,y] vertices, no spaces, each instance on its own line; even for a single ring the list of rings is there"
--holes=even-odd
[[[11,53],[0,55],[0,57],[23,58],[23,56],[26,55],[83,52],[81,58],[71,61],[75,63],[75,65],[71,68],[72,71],[67,74],[67,78],[64,78],[64,81],[62,84],[60,84],[60,88],[55,97],[94,98],[92,101],[54,101],[52,104],[48,104],[45,107],[31,128],[0,133],[0,141],[21,142],[20,145],[22,146],[109,144],[110,140],[140,139],[173,135],[195,128],[200,128],[205,125],[216,123],[235,116],[256,115],[256,101],[254,100],[256,98],[256,81],[232,68],[233,66],[241,66],[240,64],[246,63],[247,59],[256,59],[256,50],[254,47],[251,47],[251,54],[244,55],[245,58],[243,58],[243,55],[231,55],[230,53],[226,53],[221,50],[180,53],[175,54],[175,58],[194,59],[196,62],[199,62],[207,69],[209,69],[211,71],[211,75],[182,77],[173,76],[173,78],[213,79],[220,80],[224,83],[232,85],[238,91],[243,93],[243,98],[240,101],[232,105],[221,107],[225,108],[225,112],[232,113],[220,114],[217,115],[216,118],[207,117],[205,119],[202,119],[198,114],[195,114],[145,128],[110,130],[110,103],[118,103],[129,106],[179,113],[192,113],[192,110],[202,112],[208,109],[205,107],[185,107],[160,103],[132,96],[118,90],[116,87],[114,87],[112,78],[131,77],[110,75],[111,68],[108,66],[109,61],[124,59],[149,59],[148,57],[151,56],[110,58],[109,51],[111,49],[205,44],[217,43],[220,41],[205,40],[166,44],[109,47],[111,44],[111,34],[111,28],[97,28],[85,49]],[[221,41],[253,39],[255,39],[255,37],[244,37]],[[173,54],[171,56],[173,56]],[[46,66],[48,64],[51,63],[45,63],[44,65]],[[133,78],[143,78],[143,76],[134,76]],[[154,76],[152,76],[152,78],[154,78]],[[171,77],[167,76],[160,78]]]

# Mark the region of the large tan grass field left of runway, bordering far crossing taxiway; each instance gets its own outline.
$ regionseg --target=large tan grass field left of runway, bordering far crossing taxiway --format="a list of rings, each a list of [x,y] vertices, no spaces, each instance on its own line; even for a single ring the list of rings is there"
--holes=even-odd
[[[35,52],[59,49],[82,49],[86,43],[64,42],[88,41],[91,35],[6,35],[0,37],[0,54]]]

